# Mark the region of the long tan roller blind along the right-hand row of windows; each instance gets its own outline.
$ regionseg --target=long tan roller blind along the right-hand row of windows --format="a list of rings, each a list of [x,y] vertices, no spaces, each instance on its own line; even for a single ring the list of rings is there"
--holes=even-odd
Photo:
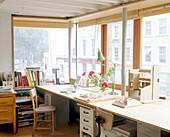
[[[131,19],[153,16],[153,15],[158,15],[158,14],[163,14],[163,13],[168,13],[168,12],[170,12],[170,3],[151,7],[151,8],[129,11],[127,17],[128,17],[128,20],[131,20]],[[111,16],[106,16],[102,18],[97,18],[93,20],[86,20],[83,22],[79,22],[78,24],[79,24],[79,27],[86,27],[86,26],[91,26],[91,25],[97,25],[97,24],[102,25],[102,24],[114,23],[114,22],[119,22],[119,21],[122,21],[122,13],[111,15]]]

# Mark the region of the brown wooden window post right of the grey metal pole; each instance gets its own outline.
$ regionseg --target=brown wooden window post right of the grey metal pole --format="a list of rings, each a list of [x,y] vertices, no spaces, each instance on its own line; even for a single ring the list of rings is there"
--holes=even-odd
[[[141,20],[134,20],[133,33],[133,69],[139,69],[141,66]]]

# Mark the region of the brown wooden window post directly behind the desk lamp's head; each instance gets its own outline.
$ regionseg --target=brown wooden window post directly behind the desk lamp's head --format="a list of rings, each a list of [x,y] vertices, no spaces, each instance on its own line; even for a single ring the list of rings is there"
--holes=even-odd
[[[103,56],[107,58],[107,24],[101,26],[101,51]],[[107,60],[101,63],[101,72],[107,73]]]

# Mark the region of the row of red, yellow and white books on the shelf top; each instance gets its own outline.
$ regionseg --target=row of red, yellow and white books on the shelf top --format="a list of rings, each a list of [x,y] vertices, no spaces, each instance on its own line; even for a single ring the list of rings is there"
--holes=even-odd
[[[22,75],[22,72],[14,72],[15,75],[15,87],[18,86],[37,86],[40,85],[39,71],[28,70],[26,75]]]

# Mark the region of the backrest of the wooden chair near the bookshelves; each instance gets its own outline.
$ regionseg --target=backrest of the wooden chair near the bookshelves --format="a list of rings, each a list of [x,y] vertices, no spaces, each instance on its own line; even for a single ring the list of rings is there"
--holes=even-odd
[[[30,90],[30,95],[31,95],[31,100],[32,100],[33,111],[35,112],[35,108],[38,107],[37,93],[36,93],[35,88]]]

